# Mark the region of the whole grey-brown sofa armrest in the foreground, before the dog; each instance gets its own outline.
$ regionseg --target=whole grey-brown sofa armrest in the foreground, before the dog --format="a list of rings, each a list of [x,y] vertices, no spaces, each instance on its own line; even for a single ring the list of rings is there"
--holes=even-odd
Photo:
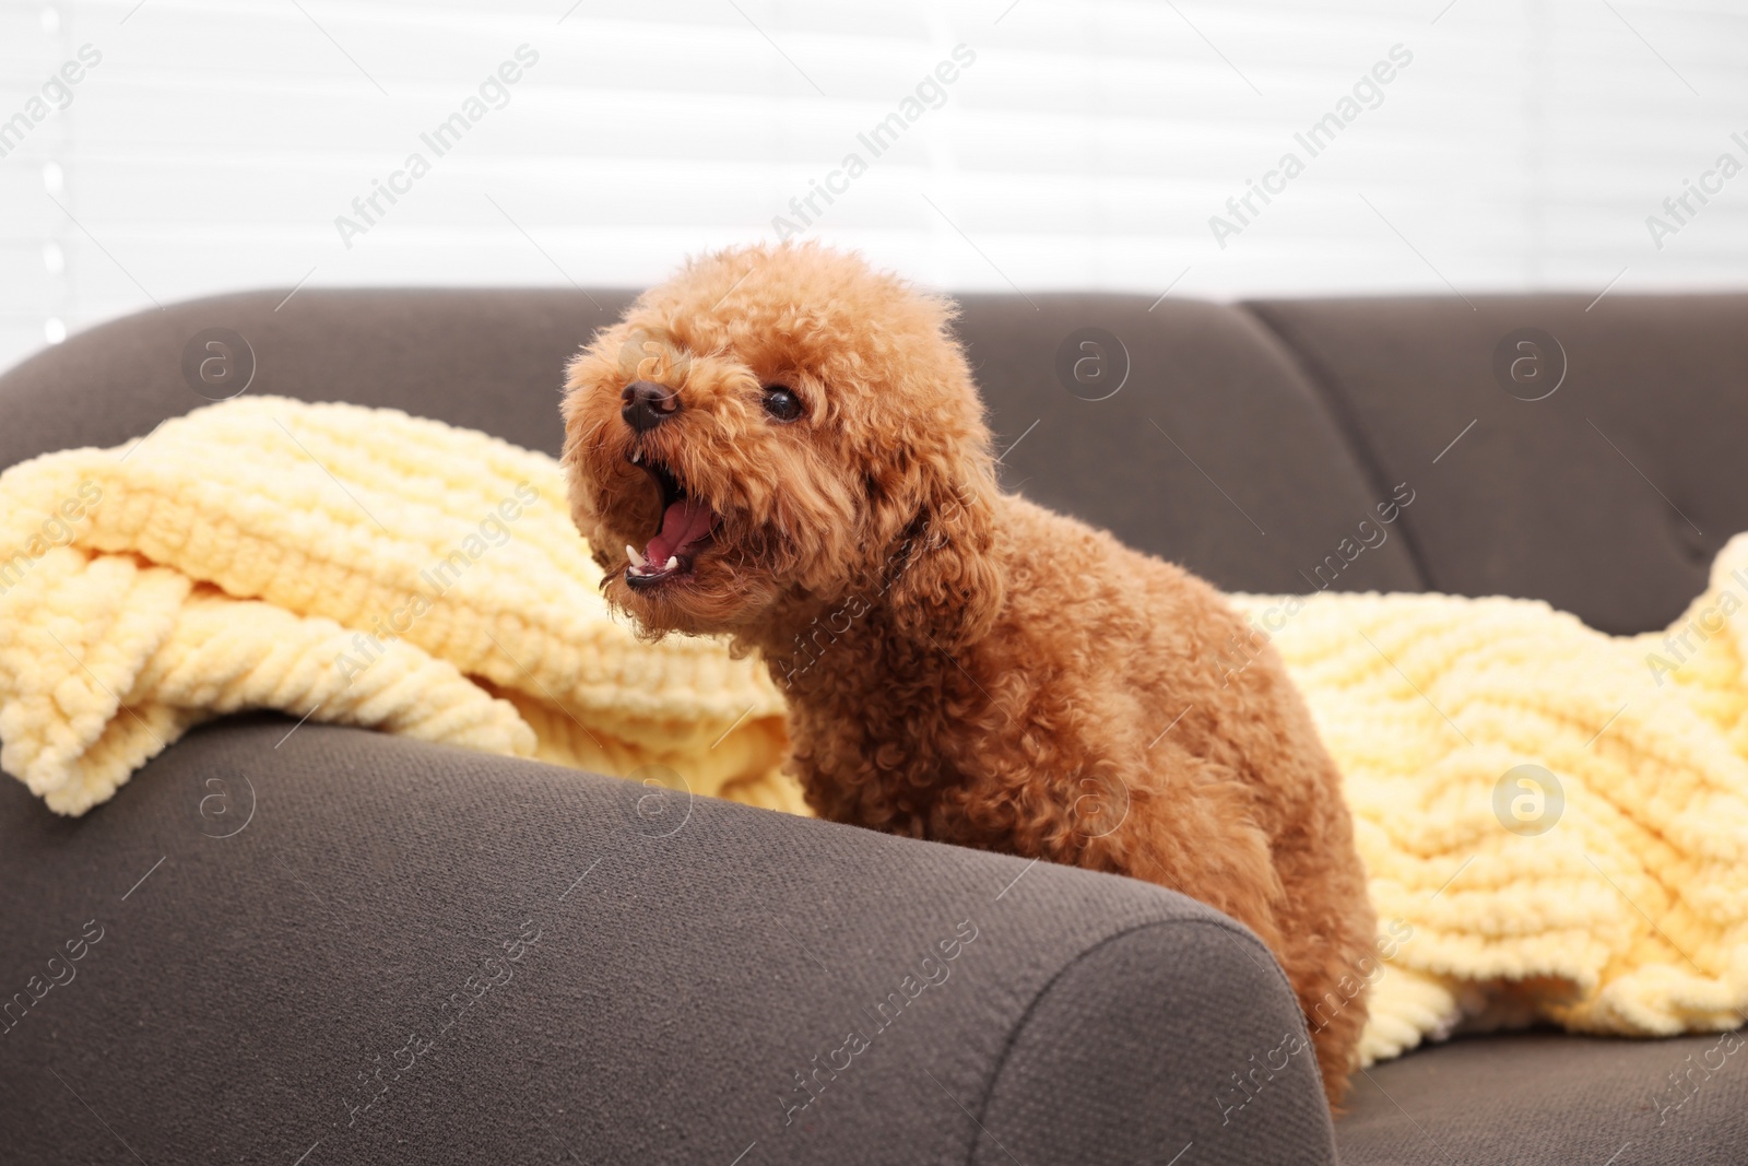
[[[1267,953],[1129,879],[271,715],[0,837],[19,1161],[1334,1161],[1308,1058],[1220,1101]]]

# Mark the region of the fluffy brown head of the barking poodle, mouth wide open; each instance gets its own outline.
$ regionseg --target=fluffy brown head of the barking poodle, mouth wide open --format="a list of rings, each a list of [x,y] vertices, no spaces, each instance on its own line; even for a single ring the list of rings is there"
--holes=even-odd
[[[643,631],[759,643],[860,600],[982,635],[995,465],[953,306],[815,245],[696,259],[570,364],[572,514]]]

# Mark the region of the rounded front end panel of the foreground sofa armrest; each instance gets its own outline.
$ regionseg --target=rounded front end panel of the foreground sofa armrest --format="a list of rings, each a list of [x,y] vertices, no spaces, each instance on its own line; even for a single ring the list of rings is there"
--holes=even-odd
[[[1017,1026],[984,1122],[1002,1147],[981,1142],[977,1166],[1335,1161],[1287,977],[1224,918],[1147,923],[1075,956]]]

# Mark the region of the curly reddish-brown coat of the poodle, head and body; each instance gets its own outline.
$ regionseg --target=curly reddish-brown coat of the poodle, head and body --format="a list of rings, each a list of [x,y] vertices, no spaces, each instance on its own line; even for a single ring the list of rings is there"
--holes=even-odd
[[[1334,1103],[1376,927],[1335,766],[1213,587],[998,491],[953,315],[813,245],[727,250],[645,292],[572,362],[563,407],[607,596],[645,635],[764,656],[820,815],[1129,874],[1241,920],[1314,1017]],[[631,381],[678,407],[636,430]],[[767,411],[773,386],[797,420]],[[622,547],[675,488],[713,533],[638,579]]]

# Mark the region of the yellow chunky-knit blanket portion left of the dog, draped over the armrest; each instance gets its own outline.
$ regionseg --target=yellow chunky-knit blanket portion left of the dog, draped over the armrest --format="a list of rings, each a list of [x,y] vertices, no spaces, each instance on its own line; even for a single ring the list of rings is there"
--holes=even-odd
[[[0,475],[7,773],[79,815],[243,708],[802,808],[769,677],[610,617],[552,458],[241,397]]]

